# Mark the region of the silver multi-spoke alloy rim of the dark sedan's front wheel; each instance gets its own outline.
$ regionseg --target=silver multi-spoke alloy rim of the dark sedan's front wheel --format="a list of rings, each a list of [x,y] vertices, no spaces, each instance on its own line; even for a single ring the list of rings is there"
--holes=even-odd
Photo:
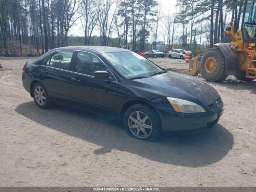
[[[130,114],[128,126],[132,134],[138,138],[148,138],[153,130],[150,118],[141,111],[135,111]]]

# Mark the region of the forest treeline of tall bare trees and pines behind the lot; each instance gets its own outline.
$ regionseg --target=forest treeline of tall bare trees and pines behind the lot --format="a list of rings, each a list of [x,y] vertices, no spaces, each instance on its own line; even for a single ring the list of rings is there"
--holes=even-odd
[[[220,42],[230,20],[240,27],[244,0],[178,0],[173,6],[176,12],[156,0],[0,0],[0,55],[34,56],[69,45],[138,52],[163,44],[196,52]],[[78,23],[83,37],[69,34]]]

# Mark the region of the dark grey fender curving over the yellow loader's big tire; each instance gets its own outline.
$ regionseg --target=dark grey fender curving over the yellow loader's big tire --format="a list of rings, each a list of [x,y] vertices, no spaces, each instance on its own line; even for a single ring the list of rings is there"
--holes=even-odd
[[[238,56],[236,51],[230,48],[229,43],[217,43],[214,47],[218,47],[225,57],[225,74],[226,75],[236,75],[238,69]]]

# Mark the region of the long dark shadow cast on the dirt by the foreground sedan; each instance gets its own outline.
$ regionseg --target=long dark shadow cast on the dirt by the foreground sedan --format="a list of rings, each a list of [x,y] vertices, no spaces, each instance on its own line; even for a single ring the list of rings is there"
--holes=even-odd
[[[16,112],[33,122],[101,146],[94,150],[95,155],[120,150],[156,162],[202,167],[220,161],[234,145],[232,134],[220,124],[207,132],[163,135],[156,142],[143,142],[129,137],[116,120],[70,107],[43,110],[34,102],[26,102],[18,105]]]

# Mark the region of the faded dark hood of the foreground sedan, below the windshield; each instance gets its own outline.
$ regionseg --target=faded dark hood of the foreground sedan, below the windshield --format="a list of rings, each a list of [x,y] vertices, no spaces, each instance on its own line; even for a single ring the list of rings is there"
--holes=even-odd
[[[198,100],[206,106],[212,104],[219,97],[218,92],[212,86],[175,72],[167,72],[134,81],[148,84],[155,88],[162,88],[164,90],[161,92],[166,97],[176,97],[192,102]]]

